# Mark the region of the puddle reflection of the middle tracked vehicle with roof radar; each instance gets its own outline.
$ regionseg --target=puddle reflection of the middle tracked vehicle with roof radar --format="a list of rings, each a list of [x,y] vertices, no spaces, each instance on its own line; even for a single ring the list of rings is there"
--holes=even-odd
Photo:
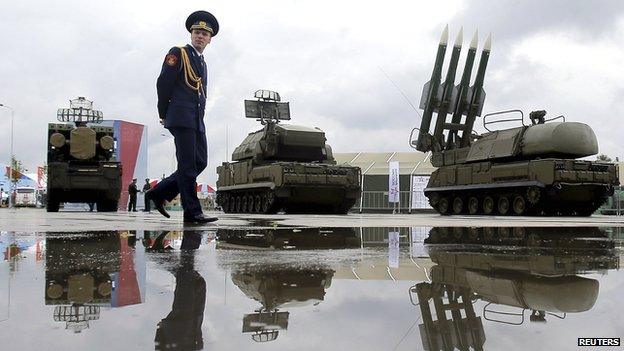
[[[234,285],[262,305],[243,317],[243,333],[251,333],[257,342],[273,341],[280,330],[288,329],[290,312],[282,309],[316,306],[323,301],[334,271],[316,262],[300,267],[284,262],[260,266],[255,258],[233,259],[225,254],[228,249],[313,250],[359,245],[353,228],[219,229],[217,239],[220,266],[231,269]]]

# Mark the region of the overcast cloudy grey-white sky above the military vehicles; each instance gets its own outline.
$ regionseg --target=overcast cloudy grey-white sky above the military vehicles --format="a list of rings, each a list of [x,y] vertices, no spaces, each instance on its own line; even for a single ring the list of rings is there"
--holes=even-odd
[[[107,118],[147,125],[149,175],[170,171],[173,146],[161,136],[155,81],[168,49],[188,42],[184,21],[198,9],[220,23],[205,52],[202,181],[214,183],[216,166],[257,129],[243,111],[257,89],[278,91],[293,123],[322,128],[335,152],[410,151],[420,119],[400,91],[418,106],[446,24],[451,40],[464,26],[466,45],[476,29],[480,46],[492,33],[485,112],[563,114],[593,127],[601,153],[624,157],[624,2],[617,0],[33,0],[0,9],[0,103],[15,109],[15,154],[31,170],[45,162],[56,109],[86,96]],[[9,140],[10,113],[0,109],[2,162]]]

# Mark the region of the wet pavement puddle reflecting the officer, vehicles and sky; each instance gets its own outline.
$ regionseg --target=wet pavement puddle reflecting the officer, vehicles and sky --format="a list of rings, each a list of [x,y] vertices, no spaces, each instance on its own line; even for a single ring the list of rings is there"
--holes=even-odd
[[[579,337],[624,337],[622,227],[284,222],[2,231],[0,340],[13,350],[570,350]]]

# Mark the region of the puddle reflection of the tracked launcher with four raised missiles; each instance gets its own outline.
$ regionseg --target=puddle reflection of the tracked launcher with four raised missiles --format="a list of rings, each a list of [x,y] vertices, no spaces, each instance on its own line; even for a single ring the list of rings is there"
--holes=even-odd
[[[431,236],[427,240],[427,251],[436,263],[431,283],[410,289],[423,319],[419,327],[425,350],[482,350],[486,340],[482,318],[522,325],[527,315],[531,322],[545,322],[589,311],[598,297],[599,281],[578,274],[619,268],[614,242],[597,228],[564,232],[526,228],[513,236],[500,235],[514,233],[511,228],[462,228],[463,233],[456,230],[444,238],[439,229],[445,228],[434,228],[435,240]],[[476,243],[488,233],[498,236],[494,246],[455,244],[454,236]],[[478,316],[475,308],[480,306]]]

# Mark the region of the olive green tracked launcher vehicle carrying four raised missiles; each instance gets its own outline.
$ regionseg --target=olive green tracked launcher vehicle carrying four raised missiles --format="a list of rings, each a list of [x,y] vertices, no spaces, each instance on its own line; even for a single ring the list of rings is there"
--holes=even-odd
[[[481,116],[485,101],[483,79],[490,38],[481,53],[473,86],[469,84],[476,35],[461,81],[454,85],[461,33],[452,49],[445,81],[440,83],[447,39],[448,28],[440,40],[431,80],[423,89],[420,107],[424,113],[418,138],[412,139],[416,129],[410,136],[410,145],[431,152],[431,163],[437,167],[424,190],[431,206],[444,215],[590,216],[619,185],[616,165],[580,159],[598,153],[592,129],[583,123],[566,122],[563,116],[546,119],[546,111],[531,112],[531,122],[526,125],[522,111],[509,110],[483,116],[487,132],[476,134],[474,122]],[[437,118],[432,127],[434,112]],[[447,115],[452,116],[450,121]],[[496,123],[520,126],[491,130]]]

